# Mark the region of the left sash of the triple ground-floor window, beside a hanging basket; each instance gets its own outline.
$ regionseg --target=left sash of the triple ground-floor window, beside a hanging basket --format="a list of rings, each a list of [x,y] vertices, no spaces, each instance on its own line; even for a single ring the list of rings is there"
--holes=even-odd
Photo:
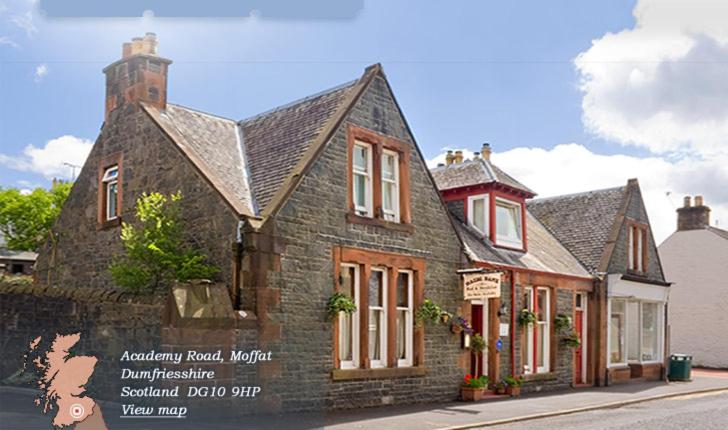
[[[342,264],[340,272],[340,291],[349,296],[356,305],[351,314],[339,315],[339,357],[341,368],[359,367],[359,288],[361,275],[359,266]]]

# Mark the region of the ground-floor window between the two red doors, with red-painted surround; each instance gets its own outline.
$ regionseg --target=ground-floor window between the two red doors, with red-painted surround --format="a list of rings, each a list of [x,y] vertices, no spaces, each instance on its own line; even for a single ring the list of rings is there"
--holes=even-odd
[[[536,322],[525,330],[524,363],[525,374],[548,373],[551,371],[553,321],[552,289],[549,287],[524,288],[525,306],[536,314]]]

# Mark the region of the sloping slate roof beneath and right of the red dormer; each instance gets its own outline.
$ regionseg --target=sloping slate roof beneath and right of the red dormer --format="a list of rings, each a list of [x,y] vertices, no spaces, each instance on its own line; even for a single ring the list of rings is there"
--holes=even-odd
[[[524,269],[589,277],[589,272],[559,241],[528,211],[526,211],[526,237],[528,252],[496,248],[472,228],[456,223],[470,258],[494,264],[505,264]]]

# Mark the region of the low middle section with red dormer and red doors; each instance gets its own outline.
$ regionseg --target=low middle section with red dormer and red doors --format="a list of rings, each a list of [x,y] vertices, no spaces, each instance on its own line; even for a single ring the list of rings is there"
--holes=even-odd
[[[471,160],[449,151],[446,164],[432,169],[472,267],[503,274],[499,297],[464,306],[489,345],[472,362],[493,382],[522,376],[524,391],[591,384],[594,278],[528,210],[526,199],[535,193],[494,165],[490,154],[488,144]],[[522,309],[537,320],[519,323]],[[558,320],[570,327],[557,327]],[[577,348],[564,343],[571,333],[581,342]]]

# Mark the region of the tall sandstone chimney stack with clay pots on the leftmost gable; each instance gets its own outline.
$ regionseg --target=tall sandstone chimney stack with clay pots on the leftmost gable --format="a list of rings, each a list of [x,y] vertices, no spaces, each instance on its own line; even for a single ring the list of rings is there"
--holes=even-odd
[[[105,120],[127,103],[147,102],[167,107],[167,68],[171,60],[157,56],[157,36],[147,33],[124,43],[121,59],[104,69],[106,75]]]

